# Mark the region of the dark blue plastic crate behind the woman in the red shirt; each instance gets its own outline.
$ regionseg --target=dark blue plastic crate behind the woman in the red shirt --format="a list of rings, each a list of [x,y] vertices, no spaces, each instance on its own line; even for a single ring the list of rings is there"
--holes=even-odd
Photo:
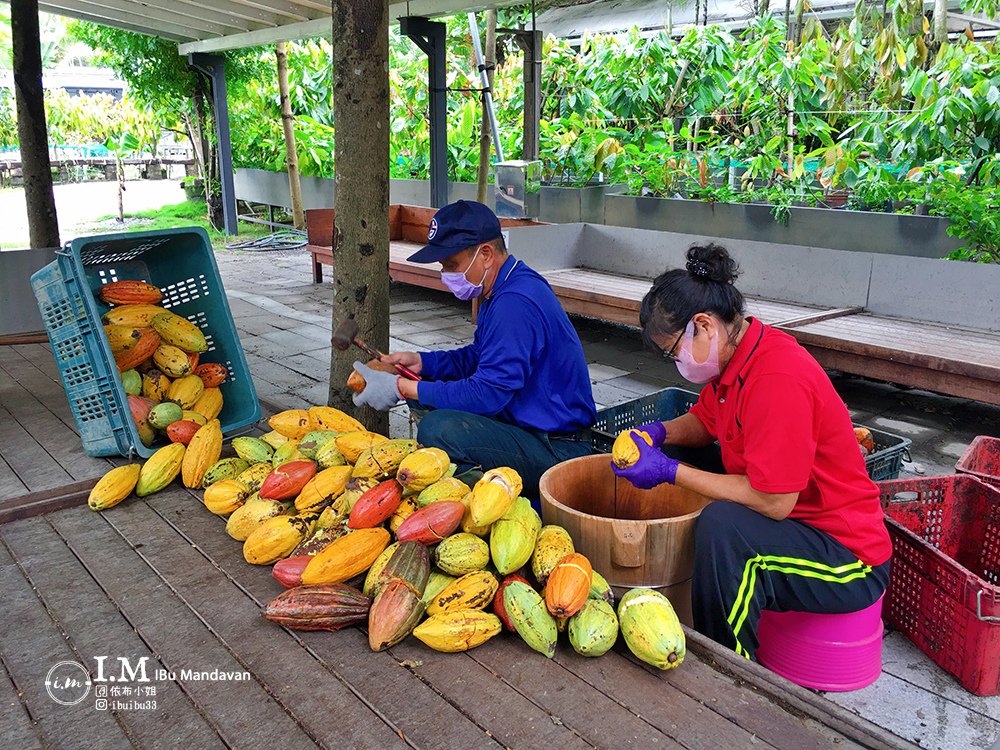
[[[597,412],[591,446],[595,453],[610,453],[615,438],[622,430],[647,424],[653,420],[666,422],[687,414],[698,401],[698,394],[682,388],[664,388],[648,396],[625,401]],[[855,425],[860,427],[861,425]],[[868,428],[875,442],[875,451],[865,459],[868,476],[874,481],[896,479],[903,467],[903,457],[910,440],[891,432]]]

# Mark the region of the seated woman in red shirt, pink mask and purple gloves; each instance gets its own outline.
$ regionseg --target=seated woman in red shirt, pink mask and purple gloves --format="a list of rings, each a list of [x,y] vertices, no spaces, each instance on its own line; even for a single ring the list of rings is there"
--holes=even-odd
[[[725,248],[695,246],[686,270],[653,282],[643,337],[706,385],[688,414],[639,428],[653,446],[633,433],[640,458],[615,472],[642,489],[668,482],[717,499],[697,524],[694,625],[752,658],[762,609],[874,604],[892,546],[847,407],[794,338],[744,315],[737,275]],[[678,460],[716,440],[724,473]]]

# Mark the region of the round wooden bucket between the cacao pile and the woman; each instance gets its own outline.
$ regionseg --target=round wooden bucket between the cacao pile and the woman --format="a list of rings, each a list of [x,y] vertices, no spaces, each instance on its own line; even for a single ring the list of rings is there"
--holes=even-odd
[[[691,625],[694,526],[710,498],[669,484],[638,490],[615,476],[607,454],[553,466],[539,488],[544,523],[565,528],[616,595],[654,588]]]

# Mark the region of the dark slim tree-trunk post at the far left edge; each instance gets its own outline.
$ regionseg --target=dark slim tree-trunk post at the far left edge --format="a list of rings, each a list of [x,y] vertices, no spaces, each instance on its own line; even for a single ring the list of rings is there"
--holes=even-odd
[[[52,192],[52,162],[49,160],[42,91],[38,0],[12,0],[10,5],[17,138],[24,175],[24,201],[28,209],[28,236],[32,248],[59,247],[59,222]]]

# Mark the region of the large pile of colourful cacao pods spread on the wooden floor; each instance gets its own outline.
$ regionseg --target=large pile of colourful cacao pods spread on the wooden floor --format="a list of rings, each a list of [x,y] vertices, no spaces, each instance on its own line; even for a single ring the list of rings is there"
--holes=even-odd
[[[269,426],[260,438],[234,438],[236,456],[224,459],[221,433],[207,452],[202,428],[186,448],[109,472],[90,505],[112,507],[133,487],[149,494],[180,471],[226,517],[244,559],[272,565],[288,589],[267,604],[267,619],[302,630],[367,624],[375,651],[410,634],[438,651],[465,651],[506,627],[550,658],[560,633],[578,653],[600,656],[620,625],[639,658],[663,669],[683,660],[667,598],[634,589],[616,613],[608,582],[565,529],[542,526],[513,469],[469,487],[444,451],[368,432],[331,407],[284,411]],[[159,458],[168,450],[176,455]]]

